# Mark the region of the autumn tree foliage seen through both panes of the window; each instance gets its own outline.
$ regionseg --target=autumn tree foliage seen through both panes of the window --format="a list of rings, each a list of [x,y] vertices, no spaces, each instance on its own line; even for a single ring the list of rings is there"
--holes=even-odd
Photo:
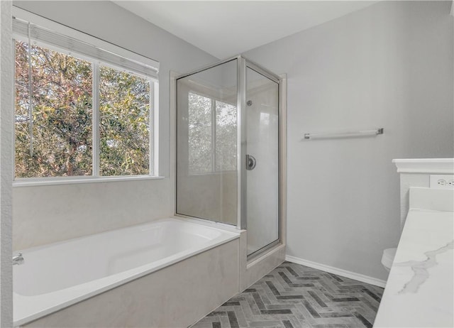
[[[16,42],[16,177],[92,175],[92,63]],[[101,67],[101,175],[148,174],[150,83]],[[30,110],[30,101],[33,110]]]

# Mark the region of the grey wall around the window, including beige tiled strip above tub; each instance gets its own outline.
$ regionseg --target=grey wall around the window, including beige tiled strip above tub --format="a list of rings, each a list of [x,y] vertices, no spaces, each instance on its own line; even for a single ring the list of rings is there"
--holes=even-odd
[[[160,62],[160,175],[164,180],[13,188],[13,248],[21,249],[174,213],[170,70],[217,59],[110,1],[15,1],[15,6]]]

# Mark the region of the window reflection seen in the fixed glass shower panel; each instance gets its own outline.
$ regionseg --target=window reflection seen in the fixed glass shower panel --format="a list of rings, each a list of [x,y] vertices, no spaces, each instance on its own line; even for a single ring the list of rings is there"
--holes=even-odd
[[[189,174],[236,170],[236,106],[189,92]]]

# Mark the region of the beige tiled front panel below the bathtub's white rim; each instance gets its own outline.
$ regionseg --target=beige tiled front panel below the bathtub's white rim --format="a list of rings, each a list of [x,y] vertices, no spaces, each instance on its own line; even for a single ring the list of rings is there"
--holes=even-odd
[[[238,239],[23,327],[188,327],[238,293],[237,255]]]

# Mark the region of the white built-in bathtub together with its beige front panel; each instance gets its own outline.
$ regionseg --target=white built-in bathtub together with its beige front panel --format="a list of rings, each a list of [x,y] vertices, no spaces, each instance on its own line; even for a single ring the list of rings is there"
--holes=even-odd
[[[24,250],[14,267],[14,325],[188,326],[238,293],[238,237],[165,219]]]

